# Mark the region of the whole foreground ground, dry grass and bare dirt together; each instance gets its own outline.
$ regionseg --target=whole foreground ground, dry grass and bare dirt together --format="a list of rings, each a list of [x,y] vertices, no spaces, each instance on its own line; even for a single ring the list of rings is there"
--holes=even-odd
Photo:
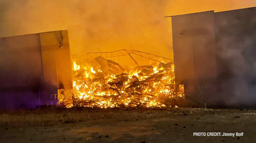
[[[0,111],[3,143],[255,143],[255,109],[76,108]],[[194,136],[243,132],[243,136]]]

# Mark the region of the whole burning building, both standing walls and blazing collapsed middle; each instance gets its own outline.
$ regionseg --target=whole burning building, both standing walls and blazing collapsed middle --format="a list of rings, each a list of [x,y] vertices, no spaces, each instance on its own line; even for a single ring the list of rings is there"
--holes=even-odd
[[[66,107],[163,107],[181,105],[184,94],[191,106],[255,104],[256,8],[171,20],[174,60],[124,49],[71,63],[67,30],[0,38],[0,108],[52,97]]]

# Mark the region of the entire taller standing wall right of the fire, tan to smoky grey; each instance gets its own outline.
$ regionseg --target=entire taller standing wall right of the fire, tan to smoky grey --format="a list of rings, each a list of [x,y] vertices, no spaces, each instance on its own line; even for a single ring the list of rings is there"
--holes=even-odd
[[[188,104],[255,105],[256,7],[170,17],[175,82]]]

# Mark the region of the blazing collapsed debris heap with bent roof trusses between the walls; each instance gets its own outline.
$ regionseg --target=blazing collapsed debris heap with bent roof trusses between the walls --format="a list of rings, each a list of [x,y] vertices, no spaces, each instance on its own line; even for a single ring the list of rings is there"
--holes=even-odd
[[[112,60],[114,56],[131,57],[131,53],[152,60],[152,64],[128,70]],[[167,99],[184,96],[184,86],[179,85],[176,90],[173,61],[154,56],[119,50],[88,53],[77,58],[73,65],[70,105],[100,108],[168,106]]]

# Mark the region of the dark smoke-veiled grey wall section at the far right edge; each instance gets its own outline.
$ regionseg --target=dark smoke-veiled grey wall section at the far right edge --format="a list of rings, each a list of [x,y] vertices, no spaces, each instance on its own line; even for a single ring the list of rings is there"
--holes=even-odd
[[[218,99],[256,104],[256,8],[214,13]]]

